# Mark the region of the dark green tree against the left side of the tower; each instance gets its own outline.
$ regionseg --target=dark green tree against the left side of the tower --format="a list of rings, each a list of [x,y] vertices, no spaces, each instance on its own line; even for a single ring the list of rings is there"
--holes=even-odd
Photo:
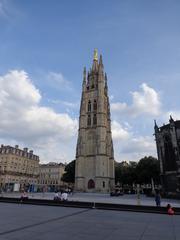
[[[75,182],[75,160],[66,165],[65,173],[63,174],[61,180],[67,183]]]

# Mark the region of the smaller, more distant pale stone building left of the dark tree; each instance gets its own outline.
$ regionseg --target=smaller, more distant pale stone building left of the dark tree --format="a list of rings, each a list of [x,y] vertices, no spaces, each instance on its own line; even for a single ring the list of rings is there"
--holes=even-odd
[[[61,177],[65,172],[65,164],[50,162],[39,166],[39,189],[41,191],[55,191],[63,186]]]

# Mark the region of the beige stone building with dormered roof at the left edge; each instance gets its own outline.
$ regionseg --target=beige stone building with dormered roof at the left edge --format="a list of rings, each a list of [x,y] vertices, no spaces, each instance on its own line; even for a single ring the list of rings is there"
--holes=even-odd
[[[34,191],[38,183],[39,157],[28,148],[0,147],[0,188],[4,191]]]

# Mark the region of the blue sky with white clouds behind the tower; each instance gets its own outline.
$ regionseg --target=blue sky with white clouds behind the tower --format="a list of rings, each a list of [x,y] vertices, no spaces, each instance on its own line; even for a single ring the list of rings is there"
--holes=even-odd
[[[117,161],[180,119],[180,1],[0,0],[0,143],[75,157],[83,67],[103,55]]]

